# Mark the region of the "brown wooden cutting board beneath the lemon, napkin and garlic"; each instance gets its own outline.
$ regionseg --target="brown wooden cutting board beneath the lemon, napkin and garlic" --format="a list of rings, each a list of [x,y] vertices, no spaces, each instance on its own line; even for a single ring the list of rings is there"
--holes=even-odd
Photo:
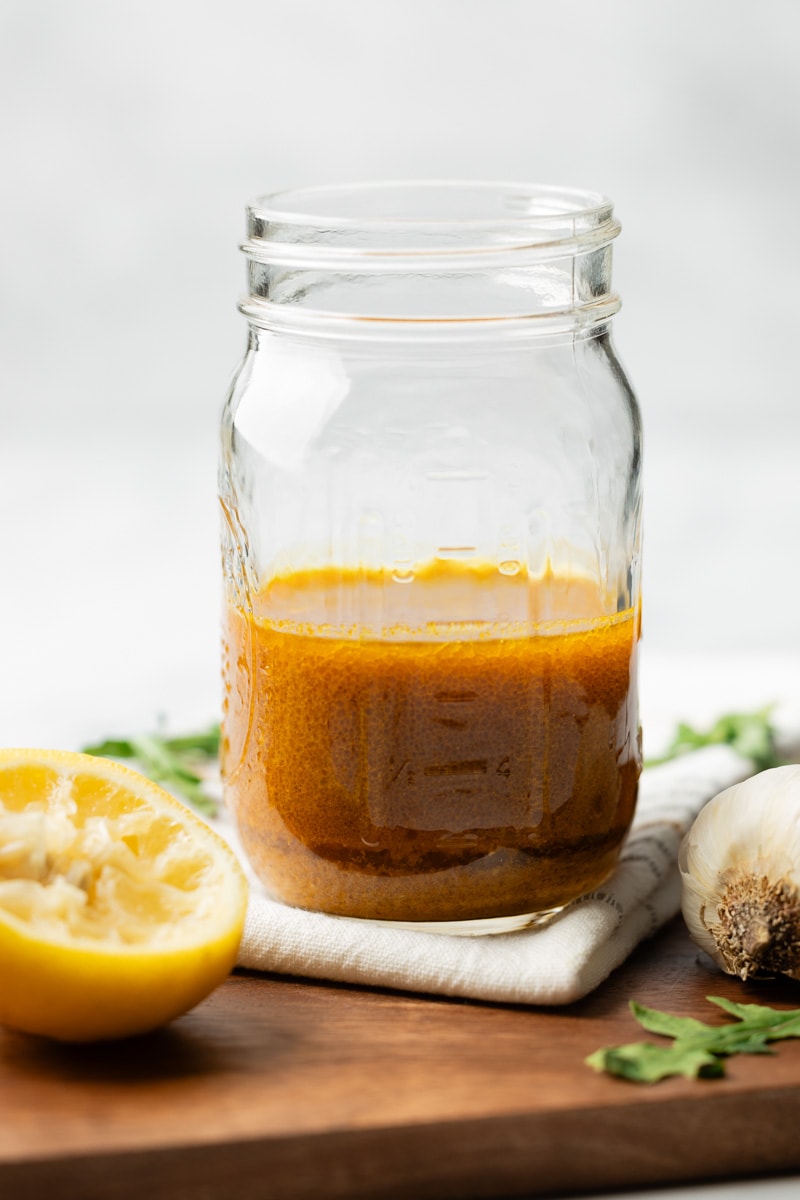
[[[443,1200],[800,1170],[800,1042],[715,1081],[584,1066],[639,1038],[630,997],[714,1021],[709,994],[800,1006],[799,984],[716,972],[675,922],[558,1009],[242,973],[126,1043],[0,1033],[0,1196]]]

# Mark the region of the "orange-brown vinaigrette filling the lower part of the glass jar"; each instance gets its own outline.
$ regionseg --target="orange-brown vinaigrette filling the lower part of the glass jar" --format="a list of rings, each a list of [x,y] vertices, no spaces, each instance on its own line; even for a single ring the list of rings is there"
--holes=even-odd
[[[307,611],[320,576],[283,577],[282,598]],[[452,582],[438,564],[421,607]],[[584,581],[527,586],[547,587],[536,604],[554,612],[567,594],[575,608]],[[610,872],[640,769],[633,611],[569,612],[515,636],[395,625],[365,638],[282,620],[263,600],[228,612],[223,774],[273,895],[469,920],[558,907]]]

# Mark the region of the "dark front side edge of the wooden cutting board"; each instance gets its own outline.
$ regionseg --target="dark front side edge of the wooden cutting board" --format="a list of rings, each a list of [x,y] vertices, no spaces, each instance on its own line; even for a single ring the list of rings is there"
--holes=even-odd
[[[664,1103],[657,1114],[625,1105],[41,1158],[6,1164],[0,1193],[8,1200],[557,1196],[789,1174],[800,1170],[799,1129],[796,1088],[757,1098],[704,1093]]]

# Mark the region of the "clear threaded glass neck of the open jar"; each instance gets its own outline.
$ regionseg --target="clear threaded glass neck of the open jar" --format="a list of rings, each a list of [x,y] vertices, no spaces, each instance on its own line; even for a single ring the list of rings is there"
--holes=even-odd
[[[365,336],[522,322],[553,332],[619,308],[610,242],[620,227],[591,192],[359,185],[263,197],[247,216],[241,308],[257,325],[335,322]]]

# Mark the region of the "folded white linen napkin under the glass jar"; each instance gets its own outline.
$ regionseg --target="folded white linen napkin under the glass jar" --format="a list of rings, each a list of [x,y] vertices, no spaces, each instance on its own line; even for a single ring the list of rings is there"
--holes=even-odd
[[[247,868],[252,887],[239,966],[487,1001],[579,1000],[675,916],[682,835],[706,800],[751,773],[728,746],[646,769],[614,874],[549,924],[512,934],[453,937],[305,912],[271,900]]]

